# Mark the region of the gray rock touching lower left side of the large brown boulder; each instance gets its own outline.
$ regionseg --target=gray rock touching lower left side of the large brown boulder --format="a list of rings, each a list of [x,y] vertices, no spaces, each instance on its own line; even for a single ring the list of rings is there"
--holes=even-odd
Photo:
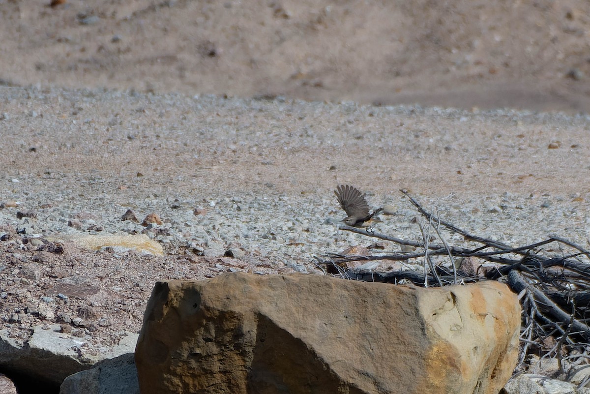
[[[66,377],[60,394],[139,394],[133,353],[103,360]]]

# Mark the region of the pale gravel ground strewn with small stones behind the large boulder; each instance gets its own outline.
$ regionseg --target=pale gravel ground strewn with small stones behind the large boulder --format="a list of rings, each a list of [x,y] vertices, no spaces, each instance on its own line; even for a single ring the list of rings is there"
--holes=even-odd
[[[375,230],[399,238],[419,236],[406,188],[477,235],[588,245],[582,116],[35,88],[0,88],[0,114],[0,327],[59,323],[81,354],[138,332],[157,280],[319,273],[314,255],[371,245],[339,230],[339,183],[392,205]],[[164,256],[68,241],[142,232]]]

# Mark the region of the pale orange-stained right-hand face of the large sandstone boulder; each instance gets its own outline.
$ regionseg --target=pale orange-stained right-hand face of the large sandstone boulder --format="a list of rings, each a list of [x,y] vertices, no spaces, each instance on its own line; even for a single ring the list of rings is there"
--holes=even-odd
[[[494,281],[421,289],[419,294],[432,343],[427,356],[432,391],[425,392],[450,393],[459,387],[470,392],[468,388],[477,387],[477,393],[497,393],[517,362],[516,294]]]

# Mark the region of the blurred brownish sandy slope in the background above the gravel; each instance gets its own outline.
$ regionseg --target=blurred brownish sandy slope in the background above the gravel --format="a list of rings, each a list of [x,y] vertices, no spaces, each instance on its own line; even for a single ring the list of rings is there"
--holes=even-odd
[[[584,0],[0,1],[5,84],[590,109]]]

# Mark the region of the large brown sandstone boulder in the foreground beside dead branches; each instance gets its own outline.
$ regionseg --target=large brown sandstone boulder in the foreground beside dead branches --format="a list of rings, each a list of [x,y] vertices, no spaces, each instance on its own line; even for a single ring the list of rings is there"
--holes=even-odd
[[[516,295],[497,282],[231,273],[157,283],[135,360],[142,394],[496,394],[519,327]]]

